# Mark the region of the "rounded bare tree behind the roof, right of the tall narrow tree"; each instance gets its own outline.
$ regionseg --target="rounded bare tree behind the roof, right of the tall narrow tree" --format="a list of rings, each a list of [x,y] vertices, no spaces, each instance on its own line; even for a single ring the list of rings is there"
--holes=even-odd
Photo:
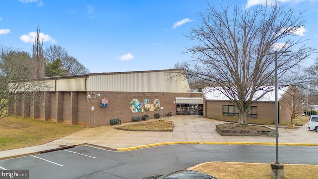
[[[62,69],[66,75],[87,74],[89,70],[81,64],[75,57],[69,56],[67,51],[57,45],[50,45],[44,51],[45,60],[47,63],[52,63],[56,59],[62,61]]]

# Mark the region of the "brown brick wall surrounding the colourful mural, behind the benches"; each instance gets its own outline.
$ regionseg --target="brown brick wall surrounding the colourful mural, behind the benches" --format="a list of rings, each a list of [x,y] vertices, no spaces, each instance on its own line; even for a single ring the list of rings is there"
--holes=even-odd
[[[191,93],[138,93],[138,92],[87,92],[91,98],[87,98],[87,128],[110,125],[110,119],[119,118],[122,123],[131,122],[133,116],[148,115],[152,119],[155,113],[161,111],[148,111],[144,114],[141,112],[133,113],[130,110],[130,102],[133,99],[138,99],[139,102],[144,102],[149,99],[152,103],[155,99],[159,99],[160,106],[164,107],[162,115],[169,111],[176,113],[175,97],[191,97]],[[101,96],[96,97],[99,93]],[[101,107],[101,98],[108,99],[108,107]],[[94,110],[92,110],[92,107]]]

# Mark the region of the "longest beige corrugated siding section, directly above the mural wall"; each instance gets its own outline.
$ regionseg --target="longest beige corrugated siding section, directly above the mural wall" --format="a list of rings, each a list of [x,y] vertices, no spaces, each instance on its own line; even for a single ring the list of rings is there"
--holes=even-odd
[[[87,91],[189,92],[187,80],[171,82],[165,71],[90,75]]]

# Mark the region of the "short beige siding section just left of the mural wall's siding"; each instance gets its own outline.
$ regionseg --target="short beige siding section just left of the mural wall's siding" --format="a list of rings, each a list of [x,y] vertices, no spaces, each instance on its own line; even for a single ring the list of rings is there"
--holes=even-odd
[[[85,78],[56,79],[56,91],[85,91]]]

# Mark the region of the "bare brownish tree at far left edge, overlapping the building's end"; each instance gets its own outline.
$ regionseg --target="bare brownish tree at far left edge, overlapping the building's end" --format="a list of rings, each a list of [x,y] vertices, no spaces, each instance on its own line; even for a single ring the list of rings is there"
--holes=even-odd
[[[45,84],[33,78],[31,62],[29,53],[0,46],[0,119],[17,101],[30,104],[39,100],[29,94],[45,88]]]

